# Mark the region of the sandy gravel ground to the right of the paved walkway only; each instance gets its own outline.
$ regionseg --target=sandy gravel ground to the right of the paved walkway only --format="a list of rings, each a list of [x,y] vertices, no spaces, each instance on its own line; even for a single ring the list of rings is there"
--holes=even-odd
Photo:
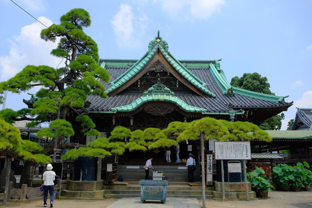
[[[202,200],[198,200],[202,206]],[[206,207],[222,208],[312,208],[312,192],[270,191],[266,199],[220,201],[207,199]]]

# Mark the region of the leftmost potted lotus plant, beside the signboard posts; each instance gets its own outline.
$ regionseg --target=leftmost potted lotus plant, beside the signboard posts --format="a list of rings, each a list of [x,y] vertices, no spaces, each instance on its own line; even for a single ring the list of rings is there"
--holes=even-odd
[[[247,173],[247,180],[251,183],[252,191],[256,191],[261,198],[268,197],[271,188],[274,188],[270,180],[264,176],[264,170],[262,168],[256,167],[252,172]]]

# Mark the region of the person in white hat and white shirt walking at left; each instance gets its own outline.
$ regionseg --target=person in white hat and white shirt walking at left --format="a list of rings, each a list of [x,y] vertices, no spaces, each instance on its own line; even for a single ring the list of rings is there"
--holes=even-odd
[[[46,207],[46,200],[48,198],[48,191],[50,192],[50,207],[53,207],[53,196],[54,196],[54,180],[55,172],[52,170],[52,165],[46,166],[46,172],[43,173],[42,184],[44,185],[44,196],[43,196],[43,207]]]

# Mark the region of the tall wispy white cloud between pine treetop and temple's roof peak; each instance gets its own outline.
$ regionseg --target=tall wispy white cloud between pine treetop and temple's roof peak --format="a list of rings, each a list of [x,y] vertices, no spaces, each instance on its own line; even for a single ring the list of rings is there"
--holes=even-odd
[[[138,46],[140,37],[145,34],[149,18],[144,13],[141,17],[134,16],[129,4],[120,4],[119,11],[110,22],[117,36],[118,46],[135,47]]]

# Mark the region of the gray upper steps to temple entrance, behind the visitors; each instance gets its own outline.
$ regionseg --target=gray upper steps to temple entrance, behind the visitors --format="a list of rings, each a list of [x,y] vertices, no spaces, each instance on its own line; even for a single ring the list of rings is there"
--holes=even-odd
[[[137,168],[139,167],[139,168]],[[188,182],[188,172],[185,169],[185,163],[181,165],[173,163],[170,165],[153,165],[157,171],[164,172],[165,177],[169,177],[170,182]],[[118,176],[123,176],[125,181],[139,181],[145,179],[145,171],[143,165],[119,165],[118,166]],[[149,177],[153,176],[153,171],[149,170]],[[197,166],[194,172],[194,182],[200,181],[200,171]]]

